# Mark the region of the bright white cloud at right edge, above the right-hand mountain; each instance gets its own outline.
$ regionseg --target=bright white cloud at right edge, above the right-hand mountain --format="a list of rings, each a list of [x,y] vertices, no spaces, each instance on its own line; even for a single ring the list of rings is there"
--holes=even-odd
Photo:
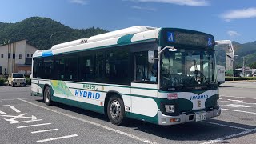
[[[225,22],[230,22],[232,19],[241,19],[241,18],[254,18],[256,17],[256,8],[248,8],[243,10],[231,10],[225,14],[221,14],[221,18]]]

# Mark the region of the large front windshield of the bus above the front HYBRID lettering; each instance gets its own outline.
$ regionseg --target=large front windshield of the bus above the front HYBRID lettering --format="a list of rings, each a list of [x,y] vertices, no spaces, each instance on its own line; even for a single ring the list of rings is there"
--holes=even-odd
[[[209,86],[216,82],[213,50],[186,50],[162,53],[161,88]]]

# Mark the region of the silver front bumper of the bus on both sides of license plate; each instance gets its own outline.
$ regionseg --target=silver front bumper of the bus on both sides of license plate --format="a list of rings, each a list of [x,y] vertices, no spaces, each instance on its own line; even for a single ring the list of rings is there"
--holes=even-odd
[[[211,111],[206,111],[206,118],[217,117],[221,114],[221,108],[214,109]],[[162,114],[158,111],[158,124],[162,126],[177,125],[185,122],[195,122],[196,114],[180,114],[178,116],[169,116]]]

